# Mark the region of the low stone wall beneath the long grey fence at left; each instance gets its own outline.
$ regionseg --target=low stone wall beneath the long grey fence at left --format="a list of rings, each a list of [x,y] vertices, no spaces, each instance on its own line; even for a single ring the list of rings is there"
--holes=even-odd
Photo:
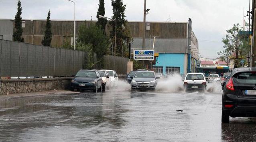
[[[70,89],[72,77],[46,79],[4,79],[0,81],[0,95],[30,93],[53,89]]]

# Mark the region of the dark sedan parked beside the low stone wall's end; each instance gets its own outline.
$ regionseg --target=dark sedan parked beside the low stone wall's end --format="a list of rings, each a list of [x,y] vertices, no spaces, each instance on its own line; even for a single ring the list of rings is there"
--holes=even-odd
[[[95,70],[80,70],[71,81],[71,91],[77,89],[93,90],[94,92],[102,91],[102,77]]]

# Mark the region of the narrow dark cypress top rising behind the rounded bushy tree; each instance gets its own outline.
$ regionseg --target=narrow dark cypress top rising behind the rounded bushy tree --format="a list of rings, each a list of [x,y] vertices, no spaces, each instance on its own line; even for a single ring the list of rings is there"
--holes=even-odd
[[[100,18],[99,15],[104,16],[105,15],[105,7],[104,7],[104,0],[99,0],[100,4],[99,4],[99,8],[98,8],[98,12],[97,12],[97,25],[101,26],[102,30],[105,33],[105,28],[106,28],[106,24],[108,23],[108,20],[105,18]]]

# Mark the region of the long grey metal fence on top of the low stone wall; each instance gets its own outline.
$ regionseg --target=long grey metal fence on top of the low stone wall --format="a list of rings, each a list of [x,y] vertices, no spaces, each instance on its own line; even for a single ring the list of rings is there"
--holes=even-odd
[[[0,76],[72,76],[83,68],[85,53],[0,39]]]

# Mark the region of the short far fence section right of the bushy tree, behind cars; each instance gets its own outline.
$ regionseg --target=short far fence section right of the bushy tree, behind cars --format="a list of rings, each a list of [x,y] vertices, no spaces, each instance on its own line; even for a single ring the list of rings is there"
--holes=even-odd
[[[105,69],[115,70],[119,75],[126,75],[128,58],[106,55],[104,56]]]

